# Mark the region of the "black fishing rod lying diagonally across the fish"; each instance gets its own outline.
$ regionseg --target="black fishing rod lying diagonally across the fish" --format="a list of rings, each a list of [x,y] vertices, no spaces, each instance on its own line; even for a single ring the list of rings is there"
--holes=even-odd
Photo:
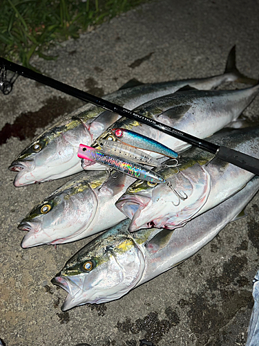
[[[0,66],[3,69],[10,70],[19,75],[22,75],[23,77],[30,78],[31,80],[36,80],[41,84],[48,85],[53,89],[57,89],[59,91],[67,93],[68,95],[74,96],[75,98],[79,98],[79,100],[93,103],[97,107],[102,107],[104,109],[107,109],[108,111],[113,111],[120,116],[125,116],[126,118],[140,121],[143,124],[154,127],[155,129],[164,132],[165,134],[169,134],[170,136],[183,140],[184,142],[194,145],[195,147],[200,147],[206,152],[210,152],[216,157],[221,158],[223,161],[227,161],[228,163],[232,163],[233,165],[243,168],[244,170],[247,170],[253,174],[259,175],[258,158],[243,154],[241,152],[237,152],[236,150],[224,147],[223,145],[215,145],[211,142],[208,142],[207,140],[192,136],[191,134],[186,134],[186,132],[179,131],[178,129],[175,129],[168,125],[164,125],[162,124],[162,122],[158,122],[151,118],[146,118],[146,116],[143,116],[140,113],[130,111],[129,109],[103,100],[102,98],[98,98],[97,96],[86,93],[85,91],[81,91],[77,88],[74,88],[73,86],[64,84],[50,77],[46,77],[46,75],[41,75],[40,73],[15,64],[14,62],[9,62],[8,60],[3,59],[3,57],[0,57]]]

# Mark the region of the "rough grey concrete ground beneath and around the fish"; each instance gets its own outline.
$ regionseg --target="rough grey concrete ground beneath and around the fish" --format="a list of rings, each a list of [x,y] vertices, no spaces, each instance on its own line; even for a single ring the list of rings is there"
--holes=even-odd
[[[35,59],[46,75],[95,95],[132,78],[160,82],[224,71],[236,44],[242,73],[258,78],[258,0],[154,0]],[[0,95],[0,338],[7,346],[245,345],[258,270],[257,195],[235,221],[196,255],[120,300],[61,312],[66,293],[50,280],[79,248],[23,250],[19,221],[68,179],[15,188],[8,165],[36,134],[83,102],[19,77]],[[244,111],[256,120],[259,97]],[[84,344],[84,345],[85,345]]]

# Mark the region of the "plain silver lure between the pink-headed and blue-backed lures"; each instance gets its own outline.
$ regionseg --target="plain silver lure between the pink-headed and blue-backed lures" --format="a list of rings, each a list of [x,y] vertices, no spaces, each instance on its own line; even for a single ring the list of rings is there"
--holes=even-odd
[[[139,149],[136,149],[135,147],[106,139],[98,140],[97,144],[104,150],[104,152],[111,153],[119,157],[128,158],[133,162],[142,163],[143,165],[161,167],[161,163],[157,161],[156,158],[153,158],[152,156],[142,152]]]

